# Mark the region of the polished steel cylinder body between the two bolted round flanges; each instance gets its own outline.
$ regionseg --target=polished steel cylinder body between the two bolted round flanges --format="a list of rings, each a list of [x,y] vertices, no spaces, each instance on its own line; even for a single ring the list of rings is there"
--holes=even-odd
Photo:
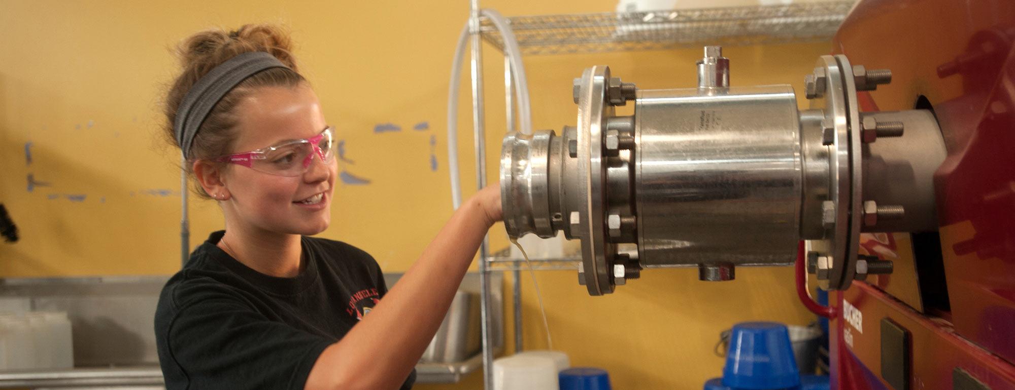
[[[802,193],[789,85],[642,90],[635,112],[642,266],[793,262]]]

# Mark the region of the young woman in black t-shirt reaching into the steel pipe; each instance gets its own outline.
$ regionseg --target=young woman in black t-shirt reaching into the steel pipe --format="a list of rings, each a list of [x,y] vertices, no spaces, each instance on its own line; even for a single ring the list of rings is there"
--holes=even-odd
[[[155,334],[168,389],[410,388],[501,218],[497,185],[480,190],[391,291],[366,252],[310,237],[331,222],[334,130],[289,47],[276,27],[245,25],[180,49],[167,132],[225,230],[162,290]]]

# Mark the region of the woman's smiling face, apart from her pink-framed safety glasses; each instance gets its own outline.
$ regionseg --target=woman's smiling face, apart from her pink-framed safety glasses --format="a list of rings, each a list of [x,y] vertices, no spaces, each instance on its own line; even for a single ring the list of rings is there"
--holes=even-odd
[[[317,94],[309,86],[263,87],[236,107],[240,118],[230,153],[247,152],[279,143],[311,138],[327,127]],[[279,176],[228,164],[221,174],[228,190],[226,223],[244,230],[314,235],[331,222],[331,198],[337,175],[335,158],[321,161],[316,154],[298,176]],[[302,201],[320,202],[308,204]]]

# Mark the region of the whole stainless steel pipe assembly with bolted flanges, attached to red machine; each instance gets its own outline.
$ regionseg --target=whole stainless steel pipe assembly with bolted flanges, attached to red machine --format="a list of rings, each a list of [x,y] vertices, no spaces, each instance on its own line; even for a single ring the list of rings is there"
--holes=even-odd
[[[945,155],[927,111],[861,113],[853,70],[822,56],[798,110],[790,85],[729,86],[718,47],[698,62],[697,88],[639,90],[589,68],[576,79],[577,127],[503,140],[507,234],[581,240],[591,295],[642,268],[728,281],[739,265],[790,265],[802,239],[807,258],[824,259],[821,287],[845,289],[869,268],[857,266],[861,231],[937,229]],[[628,101],[634,114],[617,116]]]

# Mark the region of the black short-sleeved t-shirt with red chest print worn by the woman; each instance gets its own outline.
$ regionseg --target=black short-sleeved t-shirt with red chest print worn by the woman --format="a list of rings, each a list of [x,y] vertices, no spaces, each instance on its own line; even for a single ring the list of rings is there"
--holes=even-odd
[[[388,292],[366,252],[302,237],[294,278],[258,272],[212,233],[165,284],[155,339],[166,389],[298,389],[314,363]],[[413,372],[402,384],[410,389]]]

